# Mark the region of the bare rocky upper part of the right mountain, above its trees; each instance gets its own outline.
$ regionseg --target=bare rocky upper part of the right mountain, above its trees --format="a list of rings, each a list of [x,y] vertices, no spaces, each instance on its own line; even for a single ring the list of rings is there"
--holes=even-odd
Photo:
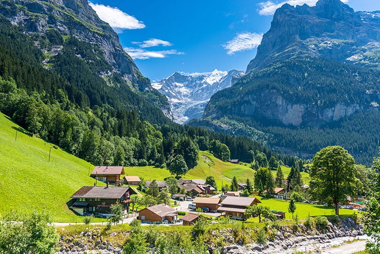
[[[364,66],[380,66],[380,12],[354,12],[339,0],[315,7],[279,8],[263,35],[247,72],[291,57],[323,57]]]

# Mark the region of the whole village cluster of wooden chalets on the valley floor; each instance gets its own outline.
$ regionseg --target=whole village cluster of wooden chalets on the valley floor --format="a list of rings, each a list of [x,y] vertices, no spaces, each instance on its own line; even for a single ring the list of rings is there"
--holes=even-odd
[[[121,178],[122,175],[125,176]],[[231,220],[245,221],[251,217],[246,213],[247,208],[261,203],[257,198],[259,194],[257,191],[252,190],[248,196],[243,195],[247,192],[246,183],[238,183],[237,191],[220,192],[207,184],[204,179],[179,179],[176,180],[173,190],[173,186],[167,183],[168,180],[142,182],[139,176],[126,174],[123,166],[95,166],[90,176],[95,179],[94,186],[83,186],[70,196],[71,201],[68,205],[75,214],[107,218],[111,216],[111,206],[120,203],[123,207],[123,222],[128,218],[137,219],[143,225],[188,226],[193,225],[200,216],[204,215],[214,219],[229,217]],[[106,185],[98,186],[99,182]],[[154,188],[167,197],[163,199],[163,203],[144,203],[133,199],[133,196],[144,197],[149,189]],[[308,186],[305,185],[304,188]],[[285,188],[276,187],[273,188],[270,198],[289,200],[290,193]],[[300,202],[309,203],[309,201]],[[361,209],[362,207],[358,203],[350,202],[341,208]],[[271,212],[278,220],[290,219],[290,216],[286,216],[286,211],[271,210]]]

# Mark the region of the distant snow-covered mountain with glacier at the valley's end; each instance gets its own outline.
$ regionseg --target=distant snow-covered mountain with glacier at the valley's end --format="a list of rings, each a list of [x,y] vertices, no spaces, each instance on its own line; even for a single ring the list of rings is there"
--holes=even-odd
[[[211,96],[230,87],[243,75],[243,71],[235,69],[194,74],[174,72],[152,86],[169,99],[172,119],[183,124],[190,119],[201,118]]]

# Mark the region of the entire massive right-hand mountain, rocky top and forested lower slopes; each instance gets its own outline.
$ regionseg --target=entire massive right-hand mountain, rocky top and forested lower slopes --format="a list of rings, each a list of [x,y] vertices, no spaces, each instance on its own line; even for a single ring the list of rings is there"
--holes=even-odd
[[[284,5],[247,74],[190,124],[307,158],[337,144],[370,164],[380,134],[379,25],[378,12],[355,13],[339,0]]]

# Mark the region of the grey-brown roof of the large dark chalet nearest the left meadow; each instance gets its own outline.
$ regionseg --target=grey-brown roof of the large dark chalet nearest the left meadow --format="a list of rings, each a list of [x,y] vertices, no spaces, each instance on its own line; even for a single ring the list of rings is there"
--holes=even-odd
[[[129,187],[95,187],[83,186],[77,192],[72,194],[71,198],[109,198],[118,199],[129,191],[129,194],[136,194],[136,192]]]

